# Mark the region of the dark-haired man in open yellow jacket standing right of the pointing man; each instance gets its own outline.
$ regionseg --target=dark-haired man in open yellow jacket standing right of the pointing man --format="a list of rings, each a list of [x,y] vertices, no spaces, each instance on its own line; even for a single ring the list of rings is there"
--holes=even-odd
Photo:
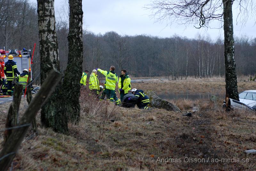
[[[121,70],[121,75],[119,77],[118,89],[120,93],[120,100],[123,101],[124,96],[131,89],[131,78],[126,74],[126,70]]]

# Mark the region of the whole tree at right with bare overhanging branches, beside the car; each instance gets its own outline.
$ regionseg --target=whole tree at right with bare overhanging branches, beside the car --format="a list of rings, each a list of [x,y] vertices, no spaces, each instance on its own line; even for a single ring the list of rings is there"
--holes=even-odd
[[[249,1],[245,0],[155,0],[146,8],[152,10],[153,17],[159,16],[156,21],[168,19],[171,22],[175,21],[180,24],[197,24],[197,26],[195,26],[196,28],[207,27],[212,20],[217,19],[223,21],[226,97],[239,100],[237,91],[236,63],[234,59],[232,16],[232,5],[234,1],[238,1],[240,9],[247,12],[242,3],[249,3]]]

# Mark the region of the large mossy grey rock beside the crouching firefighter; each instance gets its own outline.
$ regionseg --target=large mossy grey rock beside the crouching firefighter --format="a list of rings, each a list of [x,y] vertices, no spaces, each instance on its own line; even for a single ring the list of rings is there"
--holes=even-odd
[[[181,112],[179,107],[176,105],[173,105],[172,103],[161,99],[160,97],[156,96],[156,94],[153,91],[146,92],[150,99],[150,106],[165,109],[167,111],[174,111],[174,112]]]

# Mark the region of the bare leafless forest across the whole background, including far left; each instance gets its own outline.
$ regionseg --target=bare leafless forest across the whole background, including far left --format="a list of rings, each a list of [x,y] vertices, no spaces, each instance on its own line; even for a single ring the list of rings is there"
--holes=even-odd
[[[3,49],[32,49],[39,43],[36,4],[27,0],[1,0],[1,43]],[[15,13],[11,12],[15,9]],[[61,10],[60,10],[61,11]],[[7,14],[7,15],[6,15]],[[65,16],[62,13],[59,13]],[[60,70],[68,63],[68,19],[56,18]],[[224,76],[224,40],[220,35],[195,35],[194,39],[175,35],[161,38],[150,35],[118,35],[109,31],[94,34],[83,30],[83,70],[110,65],[128,70],[133,77],[168,77],[170,79],[209,78]],[[216,37],[212,40],[211,37]],[[254,76],[256,72],[256,38],[235,35],[235,60],[237,75]],[[34,79],[40,80],[39,48],[36,48]],[[127,62],[129,61],[129,62]]]

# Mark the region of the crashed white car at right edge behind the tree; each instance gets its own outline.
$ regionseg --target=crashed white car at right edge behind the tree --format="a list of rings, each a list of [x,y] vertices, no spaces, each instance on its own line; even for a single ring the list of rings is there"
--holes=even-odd
[[[246,90],[239,93],[239,101],[230,99],[231,108],[252,109],[256,111],[256,90]],[[224,101],[224,105],[226,105]],[[224,106],[223,105],[223,106]]]

